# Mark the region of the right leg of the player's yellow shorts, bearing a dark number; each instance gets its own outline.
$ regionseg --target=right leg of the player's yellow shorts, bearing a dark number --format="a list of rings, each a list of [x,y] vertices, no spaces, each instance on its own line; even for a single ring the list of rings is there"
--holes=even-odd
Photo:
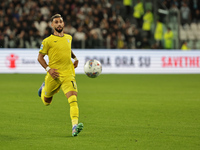
[[[63,81],[63,83],[61,85],[61,88],[62,88],[64,94],[66,94],[66,93],[68,93],[70,91],[78,92],[77,84],[76,84],[76,80],[75,79]]]

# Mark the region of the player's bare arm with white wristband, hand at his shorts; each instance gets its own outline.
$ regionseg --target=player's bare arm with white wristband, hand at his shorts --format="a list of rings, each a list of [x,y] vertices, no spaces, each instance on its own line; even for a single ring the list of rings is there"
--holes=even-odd
[[[52,78],[54,78],[54,79],[58,78],[58,77],[59,77],[59,73],[57,72],[57,69],[49,68],[49,69],[47,70],[48,65],[47,65],[47,63],[46,63],[46,61],[45,61],[45,59],[44,59],[44,56],[45,56],[44,54],[39,53],[39,54],[38,54],[38,62],[41,64],[41,66],[42,66],[46,71],[49,72],[49,74],[52,76]]]

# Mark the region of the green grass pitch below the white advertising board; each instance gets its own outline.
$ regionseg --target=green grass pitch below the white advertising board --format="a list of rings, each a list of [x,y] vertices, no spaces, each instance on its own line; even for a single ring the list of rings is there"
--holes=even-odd
[[[44,77],[0,74],[1,150],[200,149],[200,74],[78,74],[77,137],[63,92],[38,97]]]

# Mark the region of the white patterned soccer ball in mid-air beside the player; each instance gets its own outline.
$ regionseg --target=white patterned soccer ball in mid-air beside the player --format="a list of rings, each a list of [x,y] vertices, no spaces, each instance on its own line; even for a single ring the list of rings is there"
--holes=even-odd
[[[96,59],[88,60],[84,65],[85,74],[90,78],[96,78],[101,74],[101,63]]]

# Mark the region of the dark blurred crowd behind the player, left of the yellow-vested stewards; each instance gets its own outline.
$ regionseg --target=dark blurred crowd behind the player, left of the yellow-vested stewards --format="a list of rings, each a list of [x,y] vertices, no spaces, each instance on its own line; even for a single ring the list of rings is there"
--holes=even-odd
[[[131,24],[120,15],[121,7],[114,0],[3,0],[0,47],[40,47],[52,33],[51,16],[59,13],[73,48],[131,48]]]

